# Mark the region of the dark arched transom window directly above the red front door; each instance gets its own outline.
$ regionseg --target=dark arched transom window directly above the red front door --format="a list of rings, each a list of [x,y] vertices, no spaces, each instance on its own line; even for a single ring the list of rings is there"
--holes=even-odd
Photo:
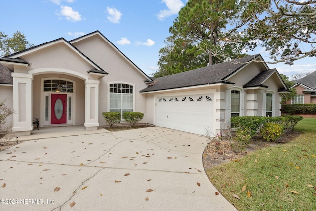
[[[49,92],[74,92],[74,83],[60,80],[60,79],[49,79],[44,81],[44,91]]]

